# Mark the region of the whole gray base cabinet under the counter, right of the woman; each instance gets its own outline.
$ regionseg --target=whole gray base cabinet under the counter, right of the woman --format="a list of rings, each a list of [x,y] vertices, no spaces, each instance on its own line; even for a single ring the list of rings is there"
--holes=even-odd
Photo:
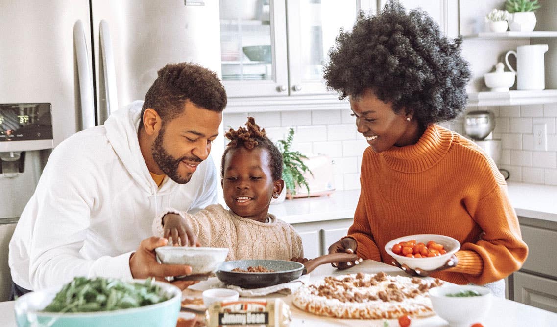
[[[509,281],[515,301],[557,313],[557,222],[519,217],[528,257]]]

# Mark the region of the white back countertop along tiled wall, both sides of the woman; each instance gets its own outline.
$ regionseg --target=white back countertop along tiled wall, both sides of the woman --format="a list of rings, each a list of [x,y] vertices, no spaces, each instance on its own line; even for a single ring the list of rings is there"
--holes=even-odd
[[[360,190],[335,191],[330,196],[285,200],[269,212],[289,224],[354,217]],[[509,183],[509,198],[519,216],[557,222],[557,186]]]

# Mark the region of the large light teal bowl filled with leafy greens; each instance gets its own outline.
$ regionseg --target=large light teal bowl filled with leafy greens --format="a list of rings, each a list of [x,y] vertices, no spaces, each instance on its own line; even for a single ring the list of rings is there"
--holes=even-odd
[[[182,291],[147,280],[76,277],[53,289],[19,296],[16,323],[28,326],[176,326]]]

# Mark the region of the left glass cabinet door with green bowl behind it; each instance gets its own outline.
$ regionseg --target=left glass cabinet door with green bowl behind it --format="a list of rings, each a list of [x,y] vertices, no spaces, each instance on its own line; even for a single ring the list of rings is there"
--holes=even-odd
[[[220,0],[228,96],[288,95],[284,1]]]

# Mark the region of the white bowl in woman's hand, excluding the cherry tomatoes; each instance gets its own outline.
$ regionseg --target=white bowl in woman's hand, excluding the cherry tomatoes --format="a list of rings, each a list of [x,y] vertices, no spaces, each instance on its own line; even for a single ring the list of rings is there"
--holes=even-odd
[[[407,257],[399,254],[394,254],[393,245],[400,242],[408,242],[411,240],[416,240],[416,244],[419,242],[427,244],[427,242],[429,241],[434,241],[437,244],[443,245],[447,253],[432,257]],[[416,234],[402,236],[385,244],[385,251],[387,251],[387,254],[397,260],[399,264],[405,264],[410,269],[420,268],[427,271],[437,269],[438,267],[444,265],[447,260],[451,259],[451,256],[458,250],[460,250],[460,243],[457,240],[453,239],[452,237],[439,234]]]

